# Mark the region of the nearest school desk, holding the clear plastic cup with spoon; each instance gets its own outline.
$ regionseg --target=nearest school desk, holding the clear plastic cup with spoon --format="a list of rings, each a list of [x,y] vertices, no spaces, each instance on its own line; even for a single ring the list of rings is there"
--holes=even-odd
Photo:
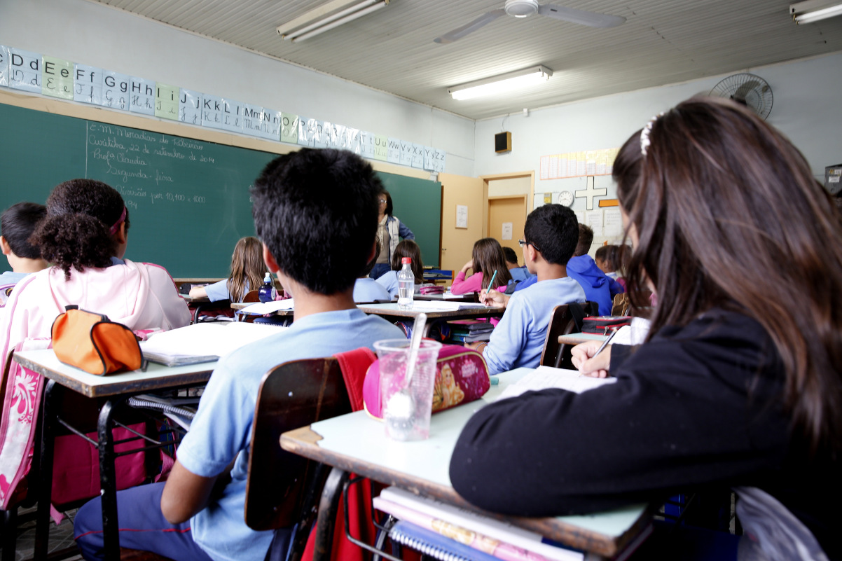
[[[347,474],[353,472],[415,494],[495,516],[466,502],[450,485],[450,454],[471,415],[497,398],[509,383],[530,371],[529,368],[518,368],[504,372],[498,376],[499,385],[492,386],[481,400],[434,414],[430,422],[430,437],[426,441],[391,441],[386,438],[379,421],[371,419],[365,411],[357,411],[285,432],[280,437],[280,446],[333,466],[322,495],[322,505],[335,505],[333,494],[341,493]],[[318,514],[320,528],[325,527],[325,523],[332,525],[335,520],[335,511],[322,512],[322,508]],[[584,549],[592,554],[591,558],[598,558],[612,557],[632,543],[639,542],[647,533],[652,513],[645,505],[635,505],[587,516],[498,517],[573,548]],[[324,552],[329,558],[328,544],[317,542],[316,551],[314,559],[319,559],[320,553]]]

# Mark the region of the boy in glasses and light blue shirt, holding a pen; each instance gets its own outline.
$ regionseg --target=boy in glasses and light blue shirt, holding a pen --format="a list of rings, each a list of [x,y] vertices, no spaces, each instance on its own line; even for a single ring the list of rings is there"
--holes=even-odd
[[[486,306],[506,308],[488,343],[468,345],[482,352],[489,373],[538,366],[552,308],[585,301],[582,287],[565,272],[578,240],[576,224],[576,215],[566,206],[544,205],[530,212],[520,245],[526,266],[538,281],[512,297],[494,290],[480,294]]]

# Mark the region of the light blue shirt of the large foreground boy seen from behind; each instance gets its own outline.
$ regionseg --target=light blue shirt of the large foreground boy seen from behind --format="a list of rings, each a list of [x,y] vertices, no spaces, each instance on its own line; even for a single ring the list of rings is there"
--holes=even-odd
[[[290,329],[222,357],[179,446],[179,462],[203,477],[221,473],[237,458],[221,497],[190,519],[194,541],[211,558],[263,559],[272,542],[271,531],[256,532],[243,519],[254,406],[264,374],[282,362],[373,348],[376,340],[403,337],[383,318],[341,310],[306,316]]]

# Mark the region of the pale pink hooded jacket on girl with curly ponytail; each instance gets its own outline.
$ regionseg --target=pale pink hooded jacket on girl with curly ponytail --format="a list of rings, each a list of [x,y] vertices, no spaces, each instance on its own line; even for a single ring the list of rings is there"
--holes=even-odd
[[[0,361],[24,339],[50,338],[56,316],[68,304],[104,313],[130,329],[164,330],[190,323],[187,304],[179,297],[172,277],[156,264],[115,264],[104,269],[64,271],[49,267],[15,286],[0,312]],[[5,365],[3,365],[5,366]]]

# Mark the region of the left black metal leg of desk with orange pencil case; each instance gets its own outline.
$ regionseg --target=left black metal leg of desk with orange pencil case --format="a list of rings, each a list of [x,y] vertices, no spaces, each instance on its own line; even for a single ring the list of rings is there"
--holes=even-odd
[[[41,403],[41,446],[38,469],[38,510],[35,513],[35,549],[33,558],[47,556],[50,538],[50,504],[52,502],[53,442],[56,435],[56,414],[61,403],[62,387],[47,380],[44,400]]]

